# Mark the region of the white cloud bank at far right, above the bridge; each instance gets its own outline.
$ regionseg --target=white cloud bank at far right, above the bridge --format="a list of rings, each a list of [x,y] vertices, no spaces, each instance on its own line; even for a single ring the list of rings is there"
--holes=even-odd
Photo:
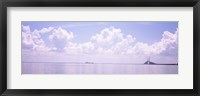
[[[162,39],[159,42],[155,42],[152,45],[147,43],[138,42],[135,46],[132,46],[127,50],[128,54],[152,56],[159,55],[162,52],[168,51],[170,49],[175,49],[178,51],[178,31],[174,34],[169,31],[165,31],[162,34]],[[170,50],[171,51],[171,50]]]

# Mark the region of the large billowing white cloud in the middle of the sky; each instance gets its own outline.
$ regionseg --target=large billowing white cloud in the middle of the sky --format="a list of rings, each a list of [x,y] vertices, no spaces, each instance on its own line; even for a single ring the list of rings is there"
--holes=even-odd
[[[126,51],[135,39],[131,35],[124,35],[121,29],[111,26],[91,36],[88,42],[82,44],[70,42],[64,49],[67,54],[121,54]]]

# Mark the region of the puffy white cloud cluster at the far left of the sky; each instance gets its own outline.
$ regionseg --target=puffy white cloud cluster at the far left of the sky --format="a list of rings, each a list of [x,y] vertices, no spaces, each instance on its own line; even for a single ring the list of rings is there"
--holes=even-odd
[[[47,37],[48,36],[48,37]],[[48,41],[43,40],[48,38]],[[56,51],[63,50],[66,44],[74,38],[72,32],[68,32],[62,28],[42,28],[35,29],[31,32],[29,26],[22,25],[22,48],[36,51]],[[47,46],[46,42],[52,42]]]

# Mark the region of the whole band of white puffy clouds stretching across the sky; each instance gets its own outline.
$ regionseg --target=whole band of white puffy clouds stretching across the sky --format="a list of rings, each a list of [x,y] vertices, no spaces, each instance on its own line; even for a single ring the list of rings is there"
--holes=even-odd
[[[123,62],[132,62],[133,58],[144,61],[149,56],[168,58],[169,55],[177,56],[178,52],[178,30],[174,33],[164,31],[162,38],[153,44],[135,42],[136,37],[124,34],[120,28],[113,26],[102,29],[84,43],[72,42],[73,39],[73,32],[61,27],[48,27],[31,32],[29,26],[22,25],[22,48],[34,50],[38,54],[55,52],[65,54],[63,56],[70,54],[70,56],[80,55],[79,58],[90,56],[90,58],[104,59],[112,56],[113,60],[123,57],[125,60]]]

